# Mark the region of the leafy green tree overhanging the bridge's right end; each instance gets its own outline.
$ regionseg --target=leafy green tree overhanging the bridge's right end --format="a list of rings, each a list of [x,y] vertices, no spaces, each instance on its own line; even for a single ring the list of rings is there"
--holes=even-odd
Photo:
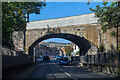
[[[120,26],[120,1],[112,2],[111,5],[107,5],[108,2],[103,2],[103,7],[96,6],[95,9],[91,9],[95,12],[95,16],[99,18],[99,22],[102,25],[101,29],[106,32],[108,29],[116,28],[116,49],[118,50],[118,27]],[[112,33],[115,34],[115,33]]]

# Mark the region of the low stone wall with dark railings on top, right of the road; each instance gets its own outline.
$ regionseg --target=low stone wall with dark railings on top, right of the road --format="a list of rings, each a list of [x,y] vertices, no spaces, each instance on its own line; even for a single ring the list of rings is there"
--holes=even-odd
[[[97,53],[81,56],[80,65],[95,72],[120,76],[120,53]]]

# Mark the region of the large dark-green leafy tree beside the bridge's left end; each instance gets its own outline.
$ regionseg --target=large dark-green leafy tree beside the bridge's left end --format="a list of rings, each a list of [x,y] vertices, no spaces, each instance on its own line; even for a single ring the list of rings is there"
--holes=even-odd
[[[31,13],[40,14],[44,2],[3,2],[2,3],[2,45],[13,47],[12,33],[26,28],[26,19]]]

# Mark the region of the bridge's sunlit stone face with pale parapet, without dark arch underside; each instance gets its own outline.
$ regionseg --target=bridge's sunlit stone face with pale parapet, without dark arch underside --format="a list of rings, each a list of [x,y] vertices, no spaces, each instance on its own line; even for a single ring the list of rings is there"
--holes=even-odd
[[[96,53],[97,48],[99,48],[101,44],[104,45],[105,52],[113,50],[113,48],[116,49],[116,38],[110,35],[110,33],[113,30],[115,31],[115,29],[110,29],[103,33],[101,26],[98,23],[98,18],[95,18],[94,13],[92,13],[58,19],[33,21],[28,23],[26,30],[26,53],[28,53],[29,47],[36,40],[48,35],[47,25],[50,26],[50,34],[68,33],[87,39],[92,44],[92,49],[89,51],[90,54]],[[17,38],[15,38],[15,44],[23,43],[22,39],[23,37],[21,38],[21,41],[18,41]],[[18,47],[22,48],[23,46],[18,45]]]

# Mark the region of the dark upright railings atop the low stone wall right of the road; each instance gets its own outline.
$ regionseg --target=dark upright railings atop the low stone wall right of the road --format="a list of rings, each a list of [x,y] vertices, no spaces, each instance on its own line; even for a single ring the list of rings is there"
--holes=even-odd
[[[81,56],[81,62],[95,63],[95,64],[118,64],[118,53],[98,52],[95,55]]]

